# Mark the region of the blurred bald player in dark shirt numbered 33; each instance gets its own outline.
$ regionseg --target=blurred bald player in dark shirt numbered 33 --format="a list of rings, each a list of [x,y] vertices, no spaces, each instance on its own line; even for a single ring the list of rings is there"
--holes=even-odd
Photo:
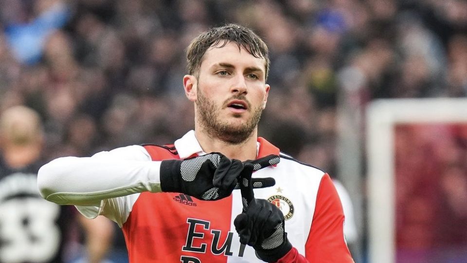
[[[24,106],[0,116],[0,263],[61,263],[69,231],[78,215],[73,207],[42,199],[37,190],[43,131],[39,115]],[[99,263],[110,245],[112,222],[81,219],[90,263]],[[98,228],[99,231],[90,231]],[[99,235],[99,236],[97,236]],[[104,236],[104,237],[103,237]],[[107,239],[105,237],[108,237]]]

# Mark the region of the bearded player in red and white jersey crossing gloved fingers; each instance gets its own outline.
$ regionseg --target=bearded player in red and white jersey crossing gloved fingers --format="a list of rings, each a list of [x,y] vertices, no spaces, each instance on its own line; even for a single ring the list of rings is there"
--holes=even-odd
[[[270,90],[263,40],[215,27],[187,60],[194,131],[174,144],[53,160],[39,171],[42,196],[117,222],[130,262],[353,262],[328,174],[257,136]]]

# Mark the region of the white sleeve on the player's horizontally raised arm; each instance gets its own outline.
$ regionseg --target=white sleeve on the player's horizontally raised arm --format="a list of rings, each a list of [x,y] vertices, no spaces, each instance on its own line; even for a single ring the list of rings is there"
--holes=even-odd
[[[40,194],[60,205],[75,205],[88,218],[102,214],[125,223],[144,191],[160,192],[160,161],[151,161],[142,146],[102,151],[92,157],[61,157],[37,175]]]

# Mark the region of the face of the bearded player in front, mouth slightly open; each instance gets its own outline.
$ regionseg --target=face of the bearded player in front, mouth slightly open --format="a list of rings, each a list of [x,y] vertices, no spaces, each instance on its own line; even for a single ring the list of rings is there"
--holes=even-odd
[[[265,59],[235,43],[211,47],[200,65],[196,92],[199,128],[225,142],[242,143],[256,131],[268,97]]]

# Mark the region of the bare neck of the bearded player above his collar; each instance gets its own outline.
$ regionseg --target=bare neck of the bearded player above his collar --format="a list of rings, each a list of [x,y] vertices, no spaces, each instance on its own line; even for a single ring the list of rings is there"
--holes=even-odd
[[[257,155],[257,136],[258,132],[255,129],[251,135],[242,143],[230,144],[218,138],[213,138],[202,129],[195,129],[195,135],[199,145],[204,152],[220,152],[229,159],[237,159],[240,161],[254,160]]]

